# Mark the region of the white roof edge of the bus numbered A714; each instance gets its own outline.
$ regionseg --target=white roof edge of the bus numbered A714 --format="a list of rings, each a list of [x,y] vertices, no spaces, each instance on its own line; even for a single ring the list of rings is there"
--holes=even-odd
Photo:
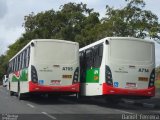
[[[105,38],[100,39],[100,40],[98,40],[98,41],[96,41],[94,43],[91,43],[91,44],[89,44],[89,45],[87,45],[85,47],[80,48],[79,51],[83,51],[83,50],[88,49],[88,48],[90,48],[92,46],[95,46],[97,44],[103,43],[106,40],[111,41],[111,40],[115,40],[115,39],[119,39],[119,40],[137,40],[137,41],[141,41],[141,42],[149,42],[149,43],[154,44],[153,41],[148,40],[148,39],[146,40],[146,39],[134,38],[134,37],[105,37]]]

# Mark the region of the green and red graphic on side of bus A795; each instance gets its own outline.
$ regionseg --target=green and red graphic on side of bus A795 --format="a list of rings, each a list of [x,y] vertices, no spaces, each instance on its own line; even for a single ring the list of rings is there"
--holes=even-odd
[[[17,71],[13,74],[12,82],[17,82],[17,81],[28,81],[28,69],[27,68]]]

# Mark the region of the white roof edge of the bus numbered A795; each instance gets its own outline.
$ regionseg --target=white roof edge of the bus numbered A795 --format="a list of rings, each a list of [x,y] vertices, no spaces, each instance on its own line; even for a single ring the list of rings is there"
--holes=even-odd
[[[14,55],[9,61],[13,60],[19,53],[21,53],[24,49],[31,45],[33,42],[61,42],[66,44],[79,45],[77,42],[67,41],[67,40],[59,40],[59,39],[33,39],[27,45],[25,45],[16,55]]]

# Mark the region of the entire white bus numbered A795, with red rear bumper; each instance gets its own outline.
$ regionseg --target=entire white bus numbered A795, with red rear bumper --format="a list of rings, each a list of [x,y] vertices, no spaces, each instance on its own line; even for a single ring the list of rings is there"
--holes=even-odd
[[[79,92],[79,44],[36,39],[9,60],[10,95]]]

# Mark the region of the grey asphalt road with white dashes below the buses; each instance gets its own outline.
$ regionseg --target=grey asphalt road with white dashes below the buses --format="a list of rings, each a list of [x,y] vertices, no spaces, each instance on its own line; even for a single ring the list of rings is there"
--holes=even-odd
[[[124,99],[117,105],[106,104],[103,99],[84,98],[76,101],[74,96],[61,97],[58,100],[34,97],[19,101],[16,96],[9,96],[6,88],[0,87],[0,119],[122,120],[126,119],[125,115],[160,115],[159,101],[158,94],[150,100]]]

